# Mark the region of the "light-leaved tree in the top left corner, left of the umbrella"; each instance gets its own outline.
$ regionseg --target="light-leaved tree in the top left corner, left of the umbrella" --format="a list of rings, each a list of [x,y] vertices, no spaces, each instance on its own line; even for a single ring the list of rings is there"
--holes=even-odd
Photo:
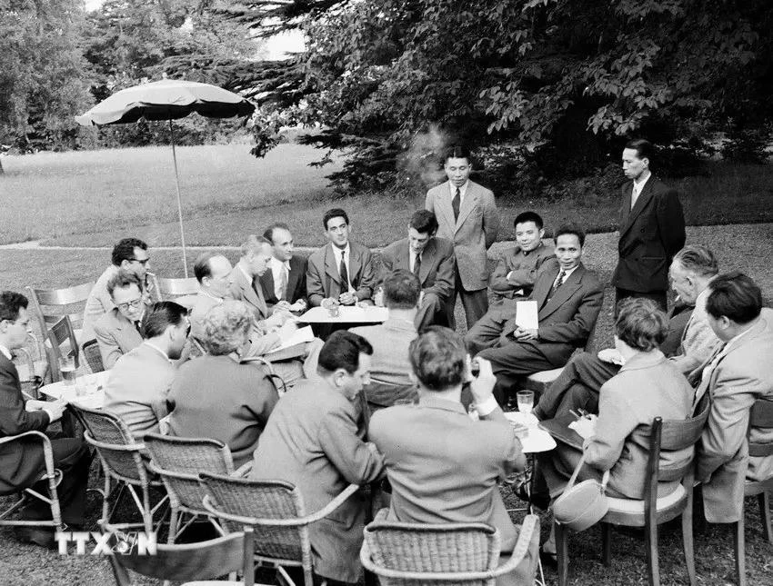
[[[75,144],[88,108],[79,0],[0,0],[0,142],[21,152]]]

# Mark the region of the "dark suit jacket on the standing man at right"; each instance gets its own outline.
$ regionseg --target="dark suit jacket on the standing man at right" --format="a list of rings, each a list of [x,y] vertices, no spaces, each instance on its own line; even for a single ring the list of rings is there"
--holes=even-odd
[[[650,176],[631,209],[633,182],[623,185],[620,240],[612,284],[651,293],[668,291],[668,267],[685,245],[685,216],[677,192]]]

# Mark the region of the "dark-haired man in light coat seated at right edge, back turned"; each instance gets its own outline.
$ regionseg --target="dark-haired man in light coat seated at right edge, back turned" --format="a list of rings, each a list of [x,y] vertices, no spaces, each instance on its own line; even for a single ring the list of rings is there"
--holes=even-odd
[[[747,275],[718,276],[706,299],[708,323],[722,341],[700,369],[696,404],[708,393],[708,422],[698,442],[695,478],[704,482],[707,521],[743,514],[744,482],[773,477],[773,456],[749,456],[748,443],[773,442],[770,428],[749,428],[754,402],[773,402],[773,310]]]

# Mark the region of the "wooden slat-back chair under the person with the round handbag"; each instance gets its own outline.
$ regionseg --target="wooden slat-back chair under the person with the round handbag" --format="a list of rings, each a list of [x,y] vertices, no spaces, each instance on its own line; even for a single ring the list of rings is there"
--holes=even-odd
[[[691,586],[696,584],[695,555],[692,535],[693,509],[693,478],[694,457],[690,454],[687,462],[678,466],[661,467],[660,452],[668,450],[676,452],[693,448],[700,439],[700,434],[706,426],[708,407],[691,419],[684,421],[666,421],[656,417],[652,425],[640,425],[634,433],[649,437],[649,459],[647,464],[647,480],[644,489],[644,499],[608,498],[609,511],[601,522],[602,558],[608,566],[612,558],[612,525],[627,527],[644,527],[645,539],[648,541],[647,571],[650,586],[660,584],[660,569],[658,564],[658,525],[677,517],[682,518],[682,541],[685,551],[685,561],[688,569],[688,580]],[[677,490],[667,496],[658,498],[658,482],[680,481]],[[563,525],[555,523],[556,549],[558,558],[558,585],[566,586],[568,578],[567,531]]]

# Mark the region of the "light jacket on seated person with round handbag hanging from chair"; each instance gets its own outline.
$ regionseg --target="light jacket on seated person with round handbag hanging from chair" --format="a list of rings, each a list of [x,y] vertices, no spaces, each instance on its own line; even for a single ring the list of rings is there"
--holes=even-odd
[[[639,353],[601,386],[596,435],[585,442],[588,465],[609,472],[609,486],[630,499],[644,498],[649,435],[637,432],[656,417],[684,420],[692,411],[693,390],[684,375],[659,350]],[[662,465],[677,466],[693,449],[661,452]],[[673,492],[676,482],[661,482],[658,494]]]

